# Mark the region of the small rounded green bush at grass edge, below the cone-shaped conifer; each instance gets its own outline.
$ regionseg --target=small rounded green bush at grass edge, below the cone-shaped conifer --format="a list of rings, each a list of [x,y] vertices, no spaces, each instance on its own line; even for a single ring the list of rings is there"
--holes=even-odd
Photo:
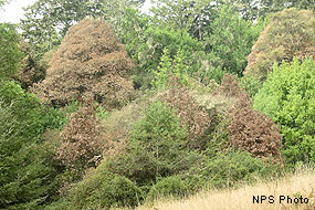
[[[178,197],[181,198],[187,193],[186,182],[177,176],[166,177],[159,180],[150,189],[147,200],[154,201],[165,197]]]

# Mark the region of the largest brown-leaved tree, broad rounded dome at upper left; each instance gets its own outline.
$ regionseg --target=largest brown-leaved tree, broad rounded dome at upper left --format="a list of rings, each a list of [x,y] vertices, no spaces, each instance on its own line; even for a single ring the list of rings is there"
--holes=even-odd
[[[52,105],[93,96],[112,109],[134,96],[134,67],[112,27],[87,18],[70,28],[34,92]]]

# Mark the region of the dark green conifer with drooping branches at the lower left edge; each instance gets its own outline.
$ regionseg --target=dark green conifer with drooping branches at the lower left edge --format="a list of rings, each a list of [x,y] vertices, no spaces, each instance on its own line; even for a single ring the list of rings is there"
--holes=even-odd
[[[0,209],[39,209],[60,186],[53,149],[41,144],[57,128],[55,113],[18,84],[0,81]]]

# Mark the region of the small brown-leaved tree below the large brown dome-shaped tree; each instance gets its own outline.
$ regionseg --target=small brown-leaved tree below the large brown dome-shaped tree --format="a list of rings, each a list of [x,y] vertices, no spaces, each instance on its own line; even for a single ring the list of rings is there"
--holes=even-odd
[[[56,148],[56,159],[72,169],[87,168],[95,165],[101,156],[99,144],[102,126],[95,114],[96,107],[91,103],[84,105],[69,117],[69,124],[60,133],[62,144]]]

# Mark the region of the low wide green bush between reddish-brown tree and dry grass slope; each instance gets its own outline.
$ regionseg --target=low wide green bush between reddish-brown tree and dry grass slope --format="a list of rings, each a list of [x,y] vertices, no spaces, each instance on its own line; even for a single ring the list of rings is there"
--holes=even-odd
[[[229,149],[216,158],[209,158],[201,167],[191,168],[186,177],[192,190],[204,188],[235,187],[258,178],[277,175],[279,167],[263,159],[254,158],[248,151]]]

